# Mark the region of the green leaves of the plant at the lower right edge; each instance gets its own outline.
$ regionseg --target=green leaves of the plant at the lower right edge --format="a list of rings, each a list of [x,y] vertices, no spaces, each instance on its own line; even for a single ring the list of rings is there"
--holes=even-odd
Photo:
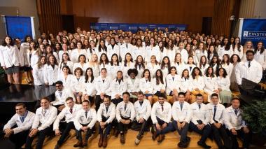
[[[244,106],[242,117],[253,133],[266,136],[266,101],[255,101]]]

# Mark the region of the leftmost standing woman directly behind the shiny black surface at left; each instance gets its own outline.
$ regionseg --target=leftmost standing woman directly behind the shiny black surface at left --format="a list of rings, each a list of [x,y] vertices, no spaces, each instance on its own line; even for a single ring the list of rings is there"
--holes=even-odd
[[[44,84],[44,65],[46,64],[46,57],[41,56],[38,59],[37,64],[34,65],[32,70],[32,76],[34,78],[34,85]]]

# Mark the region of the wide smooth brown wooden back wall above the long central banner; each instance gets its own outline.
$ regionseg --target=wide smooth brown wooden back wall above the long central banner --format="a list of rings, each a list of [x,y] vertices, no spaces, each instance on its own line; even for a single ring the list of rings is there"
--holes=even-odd
[[[215,0],[60,0],[64,15],[75,15],[75,27],[90,22],[188,24],[202,30],[202,17],[212,17]],[[71,7],[71,8],[70,8]],[[71,10],[70,10],[71,9]]]

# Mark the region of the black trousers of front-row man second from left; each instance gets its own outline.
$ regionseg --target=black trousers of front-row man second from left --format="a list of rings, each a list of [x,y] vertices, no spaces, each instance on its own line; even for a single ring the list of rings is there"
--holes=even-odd
[[[37,133],[36,136],[38,136],[38,141],[37,141],[37,144],[36,144],[36,149],[41,149],[43,148],[43,141],[45,139],[45,136],[48,136],[50,134],[52,134],[52,125],[50,127],[47,127],[41,131],[39,131]],[[25,149],[31,149],[31,144],[32,144],[32,141],[34,140],[34,137],[29,137],[27,136],[27,141],[26,141],[26,146],[25,146]]]

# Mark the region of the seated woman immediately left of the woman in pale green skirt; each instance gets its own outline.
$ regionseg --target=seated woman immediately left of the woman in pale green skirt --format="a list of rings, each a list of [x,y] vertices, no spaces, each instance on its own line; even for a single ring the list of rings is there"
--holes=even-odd
[[[208,102],[211,102],[211,94],[214,92],[219,94],[217,78],[214,74],[214,69],[211,66],[208,67],[206,74],[204,75],[204,83],[204,92],[208,94]],[[219,103],[221,103],[220,100]]]

